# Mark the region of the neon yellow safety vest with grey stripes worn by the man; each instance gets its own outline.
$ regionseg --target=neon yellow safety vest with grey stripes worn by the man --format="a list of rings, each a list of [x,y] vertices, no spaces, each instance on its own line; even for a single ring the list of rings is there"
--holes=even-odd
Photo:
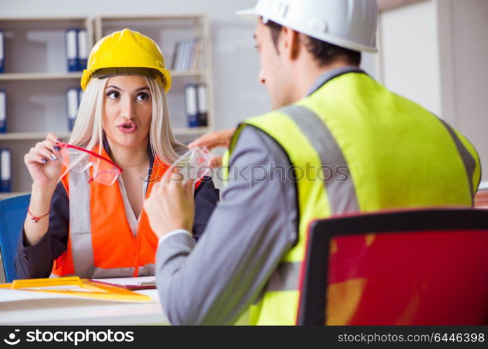
[[[368,75],[347,73],[295,105],[238,127],[228,158],[242,129],[254,126],[285,150],[296,171],[306,165],[347,169],[340,172],[345,178],[334,173],[325,183],[317,173],[297,181],[299,239],[250,306],[252,325],[294,324],[310,221],[355,211],[471,205],[479,158],[446,125]]]

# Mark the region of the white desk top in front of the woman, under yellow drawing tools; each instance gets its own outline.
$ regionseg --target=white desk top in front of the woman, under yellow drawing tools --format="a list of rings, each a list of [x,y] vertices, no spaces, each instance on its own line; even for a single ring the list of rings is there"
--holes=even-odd
[[[145,279],[148,278],[125,280],[129,285]],[[110,282],[110,279],[103,281]],[[152,302],[125,303],[72,298],[0,303],[0,325],[169,325],[157,290],[136,292],[149,295]]]

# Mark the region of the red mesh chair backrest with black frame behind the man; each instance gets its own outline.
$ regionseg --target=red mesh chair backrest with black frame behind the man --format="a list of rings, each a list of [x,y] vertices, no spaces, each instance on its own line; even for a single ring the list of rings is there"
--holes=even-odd
[[[299,325],[488,325],[488,210],[315,221]]]

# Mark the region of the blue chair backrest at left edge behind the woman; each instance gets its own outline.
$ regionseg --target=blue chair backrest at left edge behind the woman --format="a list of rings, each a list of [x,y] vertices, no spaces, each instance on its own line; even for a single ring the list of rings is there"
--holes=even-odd
[[[0,200],[0,249],[1,261],[6,282],[17,279],[13,266],[17,250],[17,239],[22,230],[31,195],[15,196]]]

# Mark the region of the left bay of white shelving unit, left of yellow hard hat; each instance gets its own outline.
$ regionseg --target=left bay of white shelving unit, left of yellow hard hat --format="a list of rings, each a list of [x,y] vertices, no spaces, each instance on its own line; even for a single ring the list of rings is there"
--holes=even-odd
[[[1,18],[4,32],[5,73],[0,89],[7,93],[7,133],[0,133],[0,147],[11,150],[12,193],[28,193],[31,177],[24,154],[49,132],[69,138],[66,89],[79,87],[81,72],[69,72],[66,29],[87,29],[91,49],[93,21],[87,17]]]

